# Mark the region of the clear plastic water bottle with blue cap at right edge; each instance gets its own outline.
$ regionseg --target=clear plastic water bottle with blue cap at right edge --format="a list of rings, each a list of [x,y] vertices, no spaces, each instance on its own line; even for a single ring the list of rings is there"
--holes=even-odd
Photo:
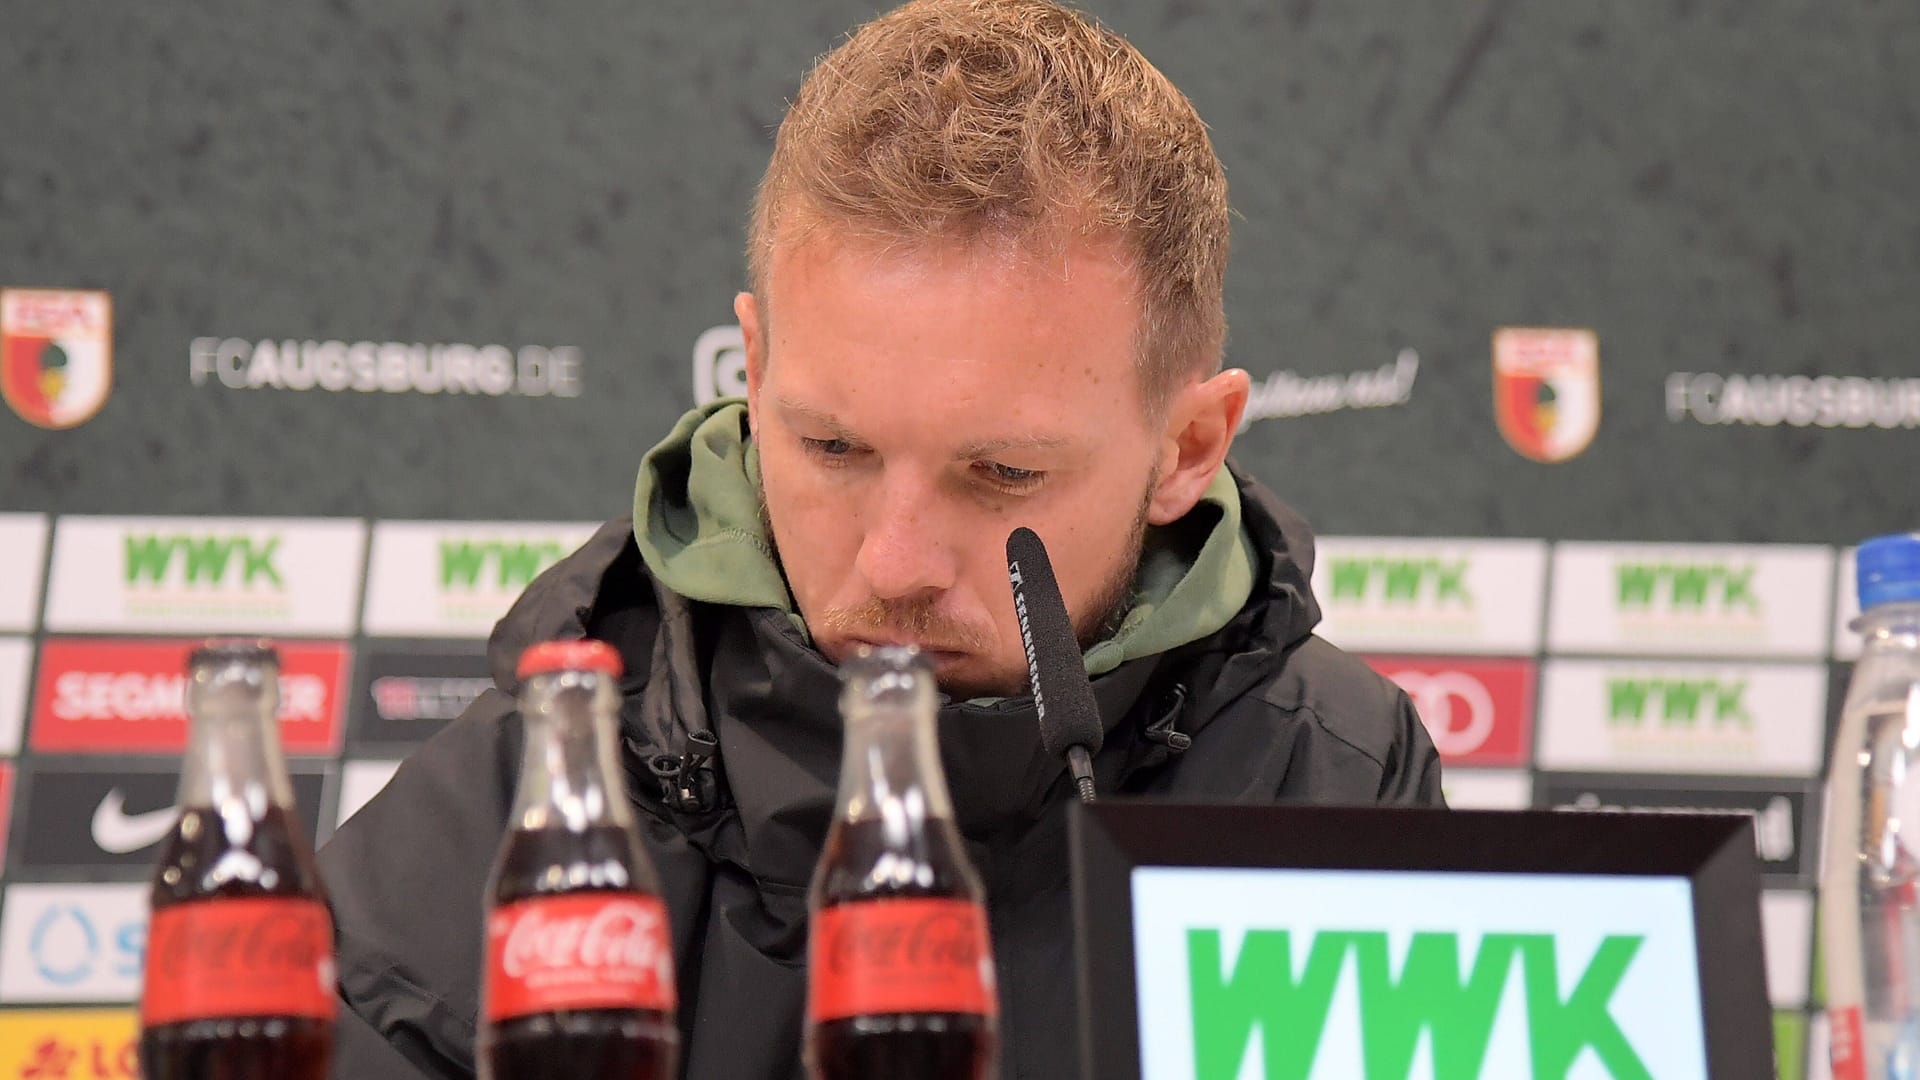
[[[1834,1080],[1920,1080],[1920,532],[1859,550],[1864,651],[1826,786]]]

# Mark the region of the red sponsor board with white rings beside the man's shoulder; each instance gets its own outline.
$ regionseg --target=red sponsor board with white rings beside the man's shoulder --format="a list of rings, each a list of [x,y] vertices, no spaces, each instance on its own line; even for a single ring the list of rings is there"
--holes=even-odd
[[[1534,728],[1534,661],[1365,659],[1407,692],[1450,767],[1526,765]]]

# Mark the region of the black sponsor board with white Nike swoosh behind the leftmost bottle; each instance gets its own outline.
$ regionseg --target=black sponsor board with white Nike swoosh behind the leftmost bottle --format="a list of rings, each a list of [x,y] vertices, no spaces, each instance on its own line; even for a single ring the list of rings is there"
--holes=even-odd
[[[321,794],[330,771],[330,763],[309,765],[288,776],[294,813],[315,846],[321,840],[315,830]],[[77,769],[71,761],[31,761],[21,786],[21,830],[13,842],[13,867],[19,871],[88,869],[146,876],[179,819],[177,769],[108,771],[92,763]]]

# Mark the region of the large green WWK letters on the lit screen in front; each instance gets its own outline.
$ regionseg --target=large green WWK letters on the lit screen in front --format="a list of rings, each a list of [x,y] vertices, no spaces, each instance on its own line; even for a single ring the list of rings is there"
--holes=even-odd
[[[1394,963],[1384,932],[1327,930],[1313,934],[1306,963],[1296,970],[1290,932],[1248,930],[1229,970],[1221,932],[1190,928],[1194,1076],[1235,1080],[1260,1030],[1261,1074],[1306,1080],[1327,1049],[1334,988],[1352,967],[1367,1080],[1411,1076],[1421,1043],[1430,1047],[1434,1080],[1476,1080],[1494,1022],[1511,1009],[1524,1013],[1536,1078],[1563,1078],[1592,1051],[1615,1078],[1651,1080],[1642,1053],[1609,1011],[1644,942],[1640,934],[1605,936],[1571,980],[1572,990],[1561,995],[1563,957],[1553,934],[1484,934],[1469,951],[1461,934],[1417,932]],[[1515,967],[1521,978],[1509,980]],[[1513,994],[1509,982],[1517,982]]]

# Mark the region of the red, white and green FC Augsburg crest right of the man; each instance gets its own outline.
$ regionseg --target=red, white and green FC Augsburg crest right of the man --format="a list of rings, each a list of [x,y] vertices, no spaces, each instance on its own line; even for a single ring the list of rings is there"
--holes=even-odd
[[[1494,332],[1494,419],[1507,446],[1565,461],[1599,430],[1599,336],[1501,327]]]

